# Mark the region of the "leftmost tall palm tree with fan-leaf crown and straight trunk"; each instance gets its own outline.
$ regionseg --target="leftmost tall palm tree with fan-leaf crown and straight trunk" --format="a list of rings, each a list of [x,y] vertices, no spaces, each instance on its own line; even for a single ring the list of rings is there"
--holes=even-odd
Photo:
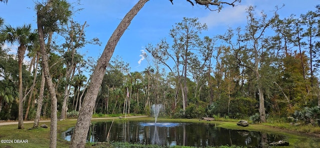
[[[18,43],[18,69],[19,69],[19,110],[18,110],[18,129],[23,129],[23,94],[22,94],[22,62],[24,53],[28,44],[31,44],[37,39],[37,32],[31,31],[31,24],[24,24],[18,27],[4,25],[0,29],[0,41],[7,41],[13,44]]]

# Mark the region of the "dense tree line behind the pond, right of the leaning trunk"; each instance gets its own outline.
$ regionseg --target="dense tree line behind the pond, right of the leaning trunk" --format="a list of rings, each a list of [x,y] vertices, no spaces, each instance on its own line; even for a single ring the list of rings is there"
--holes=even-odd
[[[141,72],[124,70],[128,64],[115,57],[103,77],[95,112],[124,113],[128,103],[126,112],[147,114],[150,104],[161,103],[171,117],[259,113],[265,121],[268,115],[287,117],[319,105],[317,8],[308,12],[312,18],[260,17],[254,7],[247,14],[245,27],[211,38],[199,37],[206,26],[197,18],[183,18],[169,31],[171,43],[162,39],[147,45],[150,65]]]

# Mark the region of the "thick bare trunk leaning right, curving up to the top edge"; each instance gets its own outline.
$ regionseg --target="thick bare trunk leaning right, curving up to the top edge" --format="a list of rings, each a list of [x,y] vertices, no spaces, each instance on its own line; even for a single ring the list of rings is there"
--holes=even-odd
[[[119,41],[120,37],[129,26],[133,17],[137,12],[143,7],[143,5],[149,0],[139,0],[132,9],[123,17],[117,28],[113,31],[111,37],[106,43],[101,57],[98,59],[97,64],[94,68],[92,75],[90,76],[91,82],[87,89],[87,93],[84,96],[83,104],[81,110],[79,110],[79,116],[75,124],[74,132],[72,134],[70,147],[78,148],[84,147],[87,131],[89,129],[90,120],[92,116],[92,111],[94,107],[94,102],[98,94],[103,75],[107,63],[109,62],[114,48]]]

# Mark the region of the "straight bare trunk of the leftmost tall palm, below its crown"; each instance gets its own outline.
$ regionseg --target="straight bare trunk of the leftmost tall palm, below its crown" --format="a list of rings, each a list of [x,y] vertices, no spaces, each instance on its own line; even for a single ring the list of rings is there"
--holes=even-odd
[[[22,88],[22,62],[25,53],[23,46],[18,47],[18,68],[19,68],[19,105],[18,105],[18,129],[23,129],[23,88]]]

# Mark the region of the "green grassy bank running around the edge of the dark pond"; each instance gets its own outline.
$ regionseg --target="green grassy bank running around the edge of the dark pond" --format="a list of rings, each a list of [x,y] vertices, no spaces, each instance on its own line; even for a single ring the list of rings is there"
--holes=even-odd
[[[104,116],[103,116],[104,117]],[[92,121],[104,121],[104,120],[112,120],[112,119],[94,119]],[[116,119],[119,120],[119,119]],[[143,117],[143,118],[127,118],[122,120],[143,120],[143,121],[153,121],[152,117]],[[309,128],[309,130],[313,130],[313,128],[318,127],[303,127],[300,126],[300,129],[294,131],[297,127],[292,127],[290,130],[285,130],[284,128],[288,128],[288,125],[282,125],[280,127],[271,127],[278,126],[279,124],[250,124],[247,127],[237,126],[235,120],[231,121],[204,121],[198,119],[166,119],[166,118],[158,118],[158,121],[175,121],[175,122],[209,122],[215,124],[218,127],[230,128],[230,129],[238,129],[238,130],[249,130],[249,131],[263,131],[266,133],[278,133],[283,134],[287,137],[287,140],[290,142],[290,146],[285,147],[320,147],[320,138],[316,136],[312,136],[312,134],[305,134],[303,131],[307,131],[303,128]],[[62,139],[61,132],[67,130],[69,127],[75,125],[76,120],[63,120],[58,121],[57,124],[57,147],[68,147],[69,142]],[[49,122],[44,122],[47,126],[50,125]],[[38,128],[28,130],[28,128],[32,127],[33,123],[25,123],[25,129],[17,129],[17,125],[1,125],[0,126],[0,139],[1,140],[12,140],[13,143],[0,143],[0,147],[48,147],[50,142],[50,128]],[[42,124],[42,123],[40,123]],[[317,129],[316,129],[317,130]],[[27,143],[16,143],[14,139],[19,140],[27,140]],[[15,143],[14,143],[15,142]],[[137,147],[134,144],[128,143],[109,143],[110,147]],[[92,143],[88,143],[86,147],[103,147],[102,145],[91,146]],[[103,144],[106,146],[106,144]],[[149,145],[151,147],[156,147],[156,145]],[[146,147],[145,145],[143,147]],[[187,146],[176,146],[186,148]]]

